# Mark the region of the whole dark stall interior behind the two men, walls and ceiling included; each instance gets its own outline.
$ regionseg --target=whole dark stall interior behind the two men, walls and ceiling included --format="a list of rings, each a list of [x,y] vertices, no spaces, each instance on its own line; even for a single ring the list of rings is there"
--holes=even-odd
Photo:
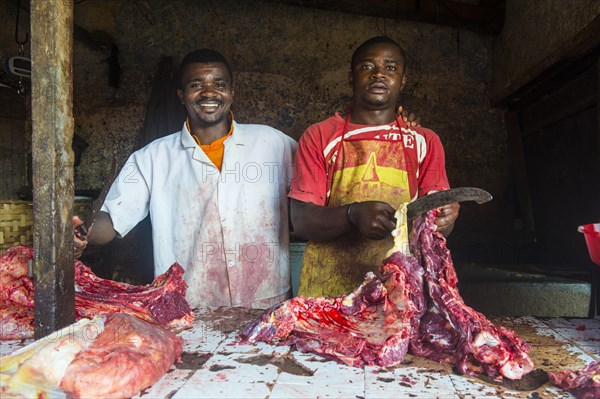
[[[19,30],[29,31],[22,0]],[[231,61],[234,113],[299,138],[349,99],[352,52],[375,35],[408,54],[404,104],[445,146],[453,186],[494,200],[465,204],[449,247],[457,262],[535,264],[592,280],[577,226],[600,222],[600,3],[590,0],[79,0],[73,60],[76,194],[180,129],[173,74],[212,47]],[[17,1],[0,2],[3,62],[19,54]],[[29,43],[23,51],[29,56]],[[0,200],[27,195],[28,91],[0,74]],[[27,85],[27,82],[24,82]],[[100,274],[150,278],[148,229],[88,255]],[[150,254],[151,255],[151,254]]]

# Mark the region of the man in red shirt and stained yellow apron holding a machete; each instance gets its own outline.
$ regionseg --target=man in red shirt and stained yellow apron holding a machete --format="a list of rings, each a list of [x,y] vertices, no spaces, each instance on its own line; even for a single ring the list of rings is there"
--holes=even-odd
[[[350,112],[310,126],[300,138],[289,193],[294,231],[311,240],[299,295],[333,296],[377,271],[393,245],[394,213],[404,202],[450,188],[442,143],[396,115],[406,83],[402,47],[387,37],[352,56]],[[440,209],[449,234],[459,204]]]

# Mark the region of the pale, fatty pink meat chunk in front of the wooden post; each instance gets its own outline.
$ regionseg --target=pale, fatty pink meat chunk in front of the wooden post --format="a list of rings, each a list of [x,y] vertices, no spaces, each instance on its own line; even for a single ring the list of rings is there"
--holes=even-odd
[[[0,358],[0,396],[129,398],[181,355],[181,338],[124,313],[79,322]]]

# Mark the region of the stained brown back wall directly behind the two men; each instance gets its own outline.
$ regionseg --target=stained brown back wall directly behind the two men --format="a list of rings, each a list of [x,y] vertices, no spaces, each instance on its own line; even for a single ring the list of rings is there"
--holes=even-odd
[[[14,12],[2,15],[8,17],[0,37],[10,42]],[[114,89],[109,54],[75,42],[75,133],[90,144],[76,169],[77,190],[102,186],[112,148],[120,163],[134,150],[161,56],[178,63],[196,48],[221,51],[235,75],[236,119],[298,138],[348,100],[356,46],[387,34],[410,56],[406,108],[441,136],[451,184],[479,186],[495,197],[485,207],[463,207],[455,240],[511,229],[503,113],[489,106],[492,36],[252,0],[85,1],[75,5],[75,22],[112,36],[122,68]]]

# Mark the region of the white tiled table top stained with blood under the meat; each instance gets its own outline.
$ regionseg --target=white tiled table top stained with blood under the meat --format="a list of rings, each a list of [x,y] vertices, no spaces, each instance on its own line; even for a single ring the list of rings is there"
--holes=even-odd
[[[572,398],[550,383],[535,391],[507,390],[456,375],[448,365],[411,355],[391,369],[353,368],[288,346],[237,345],[236,335],[250,317],[244,309],[198,311],[194,328],[180,334],[184,361],[137,397]],[[545,371],[580,368],[600,359],[600,319],[520,317],[493,321],[515,329],[529,342],[536,367]],[[0,354],[24,344],[1,343]],[[299,367],[279,367],[277,360],[283,358],[304,366],[304,372],[297,373]],[[313,375],[302,375],[307,371]]]

